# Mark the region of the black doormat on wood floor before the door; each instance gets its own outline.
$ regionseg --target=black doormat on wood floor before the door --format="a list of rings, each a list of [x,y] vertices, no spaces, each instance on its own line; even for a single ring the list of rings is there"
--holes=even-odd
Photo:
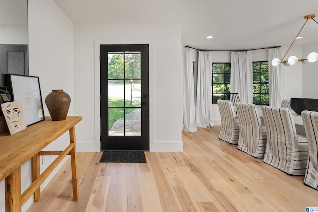
[[[100,163],[146,163],[143,151],[104,151]]]

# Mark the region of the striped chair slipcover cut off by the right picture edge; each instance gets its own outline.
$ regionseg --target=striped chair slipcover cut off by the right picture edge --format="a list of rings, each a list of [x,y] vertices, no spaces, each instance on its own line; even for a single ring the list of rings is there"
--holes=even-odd
[[[318,112],[302,111],[308,142],[308,160],[304,183],[318,190]]]

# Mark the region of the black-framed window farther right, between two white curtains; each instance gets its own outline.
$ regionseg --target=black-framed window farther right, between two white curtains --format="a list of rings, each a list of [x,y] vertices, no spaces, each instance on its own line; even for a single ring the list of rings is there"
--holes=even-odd
[[[253,104],[269,105],[268,61],[253,62]]]

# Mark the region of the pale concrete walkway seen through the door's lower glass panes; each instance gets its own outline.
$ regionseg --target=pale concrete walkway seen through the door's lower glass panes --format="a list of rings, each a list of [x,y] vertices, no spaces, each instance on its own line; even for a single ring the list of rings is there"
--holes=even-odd
[[[125,116],[125,136],[141,136],[141,109],[138,108]],[[109,130],[109,136],[124,136],[124,118],[118,119]]]

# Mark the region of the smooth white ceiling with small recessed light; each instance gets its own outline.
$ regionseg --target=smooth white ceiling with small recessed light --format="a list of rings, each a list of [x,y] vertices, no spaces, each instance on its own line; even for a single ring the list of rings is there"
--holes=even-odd
[[[180,24],[183,45],[210,50],[289,46],[304,16],[318,21],[318,0],[54,1],[75,24]],[[294,45],[318,42],[318,24],[308,20],[300,36]]]

